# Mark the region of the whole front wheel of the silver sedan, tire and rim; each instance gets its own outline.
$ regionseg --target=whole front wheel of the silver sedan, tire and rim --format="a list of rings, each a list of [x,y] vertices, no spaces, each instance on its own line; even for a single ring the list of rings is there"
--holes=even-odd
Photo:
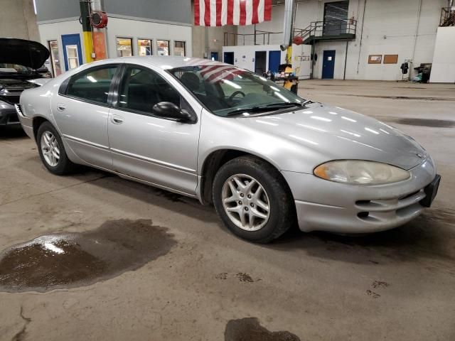
[[[225,163],[213,181],[213,202],[238,237],[267,243],[291,227],[294,200],[282,175],[269,163],[242,156]]]

